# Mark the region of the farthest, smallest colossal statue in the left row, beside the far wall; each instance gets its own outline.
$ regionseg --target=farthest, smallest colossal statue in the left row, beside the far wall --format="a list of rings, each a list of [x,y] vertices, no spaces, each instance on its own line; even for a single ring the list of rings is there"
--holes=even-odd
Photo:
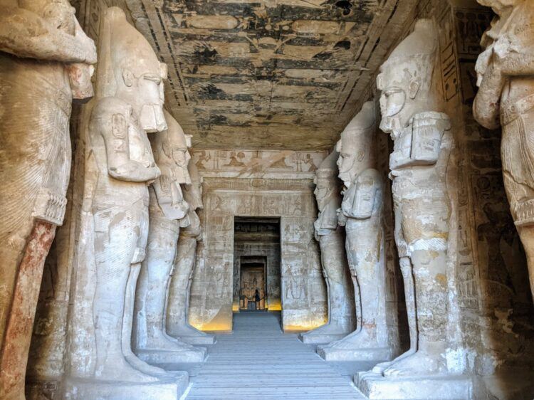
[[[178,250],[169,288],[167,332],[189,344],[214,344],[214,335],[208,335],[192,327],[187,318],[189,292],[197,260],[197,242],[202,238],[200,220],[195,210],[203,208],[202,181],[193,163],[189,163],[189,176],[191,184],[182,186],[184,197],[189,204],[186,217],[189,225],[180,230],[178,239]]]

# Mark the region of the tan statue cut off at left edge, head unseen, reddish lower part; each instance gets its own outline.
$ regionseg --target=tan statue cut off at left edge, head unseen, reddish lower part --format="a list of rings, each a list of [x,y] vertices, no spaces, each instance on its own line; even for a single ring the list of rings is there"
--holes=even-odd
[[[66,0],[0,9],[0,398],[23,399],[44,260],[65,213],[70,106],[93,95],[96,49]]]

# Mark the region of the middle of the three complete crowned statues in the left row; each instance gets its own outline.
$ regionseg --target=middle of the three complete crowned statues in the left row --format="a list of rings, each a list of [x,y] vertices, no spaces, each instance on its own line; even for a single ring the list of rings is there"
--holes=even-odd
[[[202,362],[206,349],[194,348],[167,335],[169,278],[176,256],[180,227],[189,226],[189,206],[180,184],[191,184],[187,164],[190,137],[165,111],[168,129],[155,135],[152,152],[162,172],[149,187],[147,256],[142,263],[135,300],[137,355],[151,364]],[[189,142],[189,144],[188,144]]]

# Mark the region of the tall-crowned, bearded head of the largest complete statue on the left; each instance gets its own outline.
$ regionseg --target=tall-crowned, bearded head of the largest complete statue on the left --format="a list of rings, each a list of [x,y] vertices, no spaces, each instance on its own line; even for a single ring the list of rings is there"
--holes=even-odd
[[[167,65],[159,63],[145,37],[118,7],[105,10],[100,37],[98,95],[130,102],[146,132],[166,130],[163,80]]]

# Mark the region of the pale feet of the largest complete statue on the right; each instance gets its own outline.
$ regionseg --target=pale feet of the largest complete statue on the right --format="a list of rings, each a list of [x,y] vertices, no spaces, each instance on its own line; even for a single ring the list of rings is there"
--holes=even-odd
[[[430,354],[419,350],[384,369],[384,377],[424,377],[446,371],[445,359],[439,352]]]

